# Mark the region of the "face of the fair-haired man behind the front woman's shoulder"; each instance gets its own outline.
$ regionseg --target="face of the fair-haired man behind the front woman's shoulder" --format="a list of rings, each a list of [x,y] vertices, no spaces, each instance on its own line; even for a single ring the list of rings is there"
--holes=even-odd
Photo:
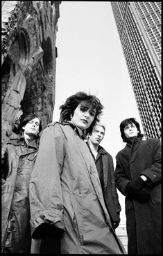
[[[105,135],[105,130],[103,126],[97,125],[94,128],[92,135],[89,137],[89,140],[90,142],[92,142],[92,144],[98,145],[102,142],[104,135]]]

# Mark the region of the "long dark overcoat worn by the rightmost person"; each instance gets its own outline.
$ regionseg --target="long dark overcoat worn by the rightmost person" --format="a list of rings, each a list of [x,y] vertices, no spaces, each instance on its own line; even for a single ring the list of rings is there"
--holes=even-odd
[[[115,179],[123,195],[128,182],[144,174],[153,186],[151,198],[141,203],[126,196],[128,253],[161,253],[161,147],[160,140],[141,140],[134,137],[132,144],[116,156]],[[135,239],[135,242],[133,242]],[[136,243],[136,246],[135,246]],[[133,248],[135,247],[135,251]]]

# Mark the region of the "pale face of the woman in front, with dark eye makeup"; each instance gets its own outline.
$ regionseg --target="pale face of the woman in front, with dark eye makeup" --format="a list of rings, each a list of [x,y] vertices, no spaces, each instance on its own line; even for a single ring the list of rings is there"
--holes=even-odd
[[[89,126],[94,121],[96,115],[96,109],[87,109],[85,106],[78,105],[74,111],[74,115],[71,118],[71,123],[81,130],[89,128]]]

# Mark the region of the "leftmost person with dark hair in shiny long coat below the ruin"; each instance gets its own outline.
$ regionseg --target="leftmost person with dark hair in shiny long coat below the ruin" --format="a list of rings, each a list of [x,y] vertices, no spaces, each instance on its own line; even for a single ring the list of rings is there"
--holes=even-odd
[[[29,181],[42,130],[40,118],[30,114],[2,148],[1,252],[31,253]]]

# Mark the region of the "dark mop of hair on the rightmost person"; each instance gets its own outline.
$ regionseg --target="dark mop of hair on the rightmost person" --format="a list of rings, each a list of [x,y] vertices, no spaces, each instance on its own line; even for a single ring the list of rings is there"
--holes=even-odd
[[[135,120],[134,117],[130,117],[128,119],[121,121],[121,123],[120,123],[120,131],[121,131],[121,137],[122,137],[123,142],[128,141],[128,138],[126,138],[126,135],[124,134],[124,128],[126,126],[128,126],[128,124],[132,124],[132,123],[134,123],[135,126],[137,127],[137,130],[138,130],[137,137],[144,137],[144,134],[141,133],[139,123]]]

